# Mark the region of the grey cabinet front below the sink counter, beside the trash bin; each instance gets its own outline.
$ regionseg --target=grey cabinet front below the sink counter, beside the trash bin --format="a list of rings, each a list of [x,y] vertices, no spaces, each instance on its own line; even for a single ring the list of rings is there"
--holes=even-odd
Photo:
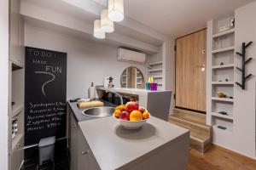
[[[100,169],[72,113],[70,113],[69,144],[71,170]]]

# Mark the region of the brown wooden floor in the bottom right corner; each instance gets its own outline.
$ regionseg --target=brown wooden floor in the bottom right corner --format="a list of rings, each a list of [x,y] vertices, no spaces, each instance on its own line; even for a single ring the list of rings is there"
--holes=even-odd
[[[255,170],[256,161],[213,145],[206,154],[189,150],[187,170]]]

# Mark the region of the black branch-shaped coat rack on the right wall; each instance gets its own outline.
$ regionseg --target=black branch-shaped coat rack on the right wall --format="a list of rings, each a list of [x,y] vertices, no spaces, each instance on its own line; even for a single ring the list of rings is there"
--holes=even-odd
[[[238,54],[239,56],[241,56],[241,68],[236,67],[236,69],[237,69],[238,71],[241,71],[241,83],[236,82],[236,84],[237,84],[238,86],[240,86],[241,89],[243,89],[243,90],[245,89],[245,84],[246,84],[246,82],[247,82],[247,79],[252,76],[252,74],[247,75],[247,77],[246,77],[246,75],[245,75],[245,74],[246,74],[246,65],[247,65],[247,63],[249,63],[249,62],[252,60],[252,58],[249,58],[249,59],[246,60],[246,49],[247,49],[252,43],[253,43],[253,42],[248,42],[248,43],[246,44],[246,42],[242,42],[242,45],[241,45],[241,53],[236,52],[236,54]]]

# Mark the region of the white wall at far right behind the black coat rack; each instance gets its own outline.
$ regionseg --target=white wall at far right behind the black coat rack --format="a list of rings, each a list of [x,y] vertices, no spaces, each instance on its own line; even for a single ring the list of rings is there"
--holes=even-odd
[[[241,42],[253,44],[247,48],[246,58],[252,57],[246,65],[246,76],[253,74],[247,80],[246,89],[235,86],[234,91],[234,144],[232,147],[246,156],[256,159],[255,115],[256,115],[256,2],[236,9],[235,48],[241,52]],[[241,67],[241,57],[235,56],[235,65]],[[235,72],[235,82],[241,82],[241,72]]]

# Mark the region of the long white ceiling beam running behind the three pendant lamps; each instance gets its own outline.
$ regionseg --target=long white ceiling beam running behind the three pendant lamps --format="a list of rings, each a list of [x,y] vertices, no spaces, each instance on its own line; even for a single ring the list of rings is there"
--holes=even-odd
[[[57,26],[67,27],[75,31],[84,32],[85,34],[93,34],[93,26],[76,18],[70,17],[67,14],[60,14],[48,8],[40,7],[32,3],[21,3],[20,14],[34,18],[36,20],[43,20]],[[125,37],[117,33],[108,34],[106,39],[117,42],[122,46],[129,48],[136,48],[147,51],[149,54],[160,52],[160,48],[152,44],[138,41],[131,37]]]

